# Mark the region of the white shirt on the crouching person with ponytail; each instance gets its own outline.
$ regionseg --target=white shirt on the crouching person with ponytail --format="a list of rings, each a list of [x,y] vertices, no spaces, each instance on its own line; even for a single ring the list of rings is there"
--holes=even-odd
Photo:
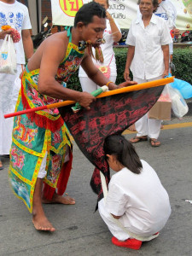
[[[127,168],[115,173],[108,186],[106,209],[131,232],[151,236],[160,231],[171,214],[169,196],[154,169],[141,160],[143,169],[135,174]]]

